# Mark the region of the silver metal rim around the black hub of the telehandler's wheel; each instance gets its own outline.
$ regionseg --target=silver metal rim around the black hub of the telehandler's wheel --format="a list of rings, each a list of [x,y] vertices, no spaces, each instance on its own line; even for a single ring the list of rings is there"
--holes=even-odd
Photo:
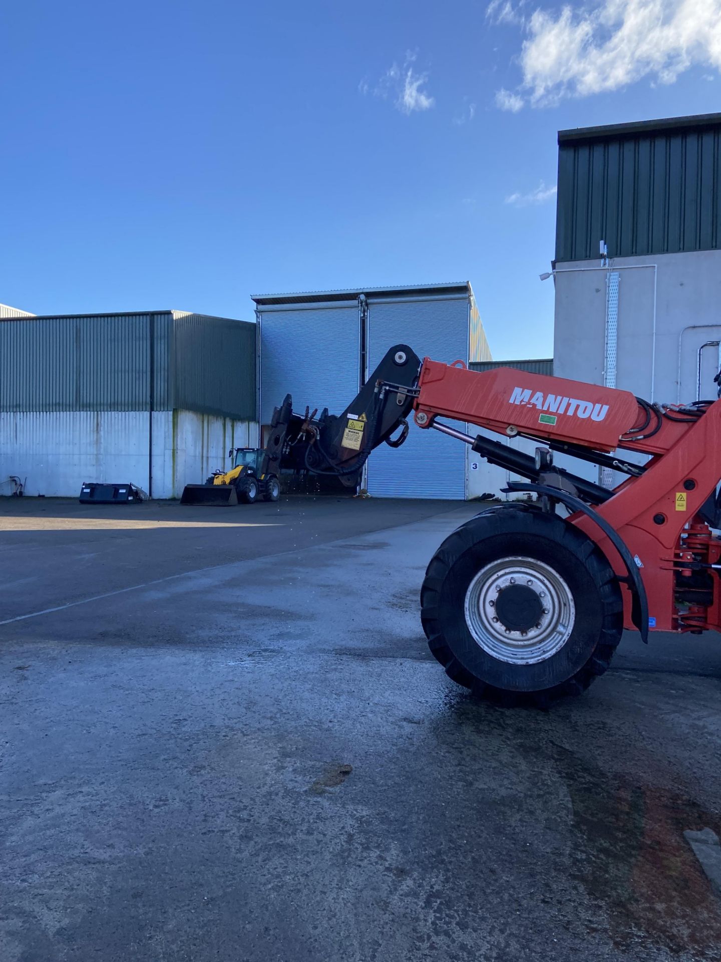
[[[538,596],[542,614],[527,631],[507,628],[495,612],[496,598],[510,585],[525,585]],[[465,623],[475,642],[499,661],[535,665],[568,641],[576,606],[559,572],[537,558],[499,558],[473,578],[465,593]]]

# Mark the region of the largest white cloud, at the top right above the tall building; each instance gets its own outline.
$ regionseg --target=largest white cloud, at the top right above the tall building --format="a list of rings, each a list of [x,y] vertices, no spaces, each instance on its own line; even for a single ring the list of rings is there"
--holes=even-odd
[[[592,3],[559,13],[538,9],[524,22],[520,90],[532,106],[623,89],[643,78],[672,84],[695,65],[721,70],[721,0]],[[493,22],[502,22],[504,10],[499,0]],[[501,93],[496,103],[509,109],[499,102]]]

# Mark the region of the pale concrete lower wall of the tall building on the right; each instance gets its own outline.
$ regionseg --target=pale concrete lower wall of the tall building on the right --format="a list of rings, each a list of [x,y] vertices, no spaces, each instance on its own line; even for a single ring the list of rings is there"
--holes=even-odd
[[[616,387],[659,402],[696,400],[698,349],[721,340],[721,251],[618,257],[611,263],[611,270],[622,268]],[[597,264],[557,265],[554,373],[603,384],[607,271],[578,269]],[[704,352],[702,397],[715,397],[717,360],[712,349]]]

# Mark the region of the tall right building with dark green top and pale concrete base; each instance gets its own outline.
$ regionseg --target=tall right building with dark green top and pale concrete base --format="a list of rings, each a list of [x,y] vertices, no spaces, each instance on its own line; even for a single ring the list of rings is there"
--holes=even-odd
[[[709,396],[721,114],[560,131],[557,203],[554,372],[655,401]]]

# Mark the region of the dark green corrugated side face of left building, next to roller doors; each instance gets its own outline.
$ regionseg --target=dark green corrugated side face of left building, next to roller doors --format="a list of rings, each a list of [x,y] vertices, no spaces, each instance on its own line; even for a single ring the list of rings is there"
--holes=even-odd
[[[256,325],[178,312],[173,332],[174,407],[257,420]]]

